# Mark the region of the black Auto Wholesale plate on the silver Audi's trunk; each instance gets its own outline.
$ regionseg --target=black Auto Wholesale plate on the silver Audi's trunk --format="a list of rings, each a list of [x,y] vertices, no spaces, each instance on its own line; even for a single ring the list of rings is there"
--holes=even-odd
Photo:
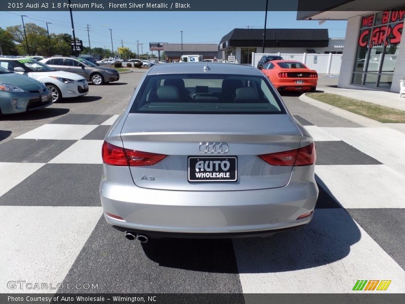
[[[231,157],[188,157],[188,181],[236,181],[237,159]]]

